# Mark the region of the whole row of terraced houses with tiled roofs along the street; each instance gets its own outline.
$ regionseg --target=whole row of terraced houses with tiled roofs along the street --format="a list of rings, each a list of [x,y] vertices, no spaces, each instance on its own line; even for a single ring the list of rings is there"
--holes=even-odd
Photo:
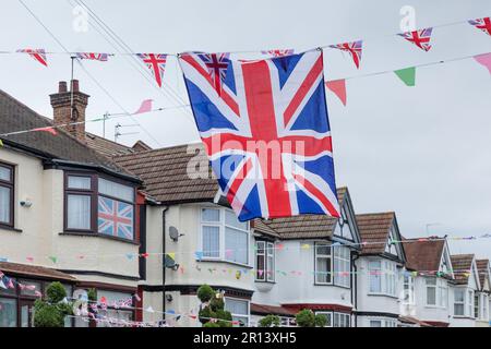
[[[357,214],[347,188],[339,219],[240,222],[201,144],[130,147],[88,133],[89,97],[70,85],[50,96],[53,119],[0,91],[1,327],[31,326],[53,280],[72,299],[96,289],[101,316],[168,326],[201,326],[203,284],[240,326],[270,314],[296,326],[303,309],[327,327],[489,326],[488,260],[451,256],[444,238],[404,239],[394,213]]]

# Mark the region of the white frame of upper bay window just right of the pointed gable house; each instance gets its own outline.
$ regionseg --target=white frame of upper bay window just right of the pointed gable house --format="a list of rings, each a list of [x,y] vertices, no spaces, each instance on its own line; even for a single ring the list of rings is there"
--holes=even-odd
[[[380,264],[380,268],[374,268],[372,263]],[[369,292],[372,296],[397,296],[397,265],[391,261],[384,258],[371,258],[368,261],[368,282]],[[378,276],[380,278],[380,291],[372,291],[372,277]]]

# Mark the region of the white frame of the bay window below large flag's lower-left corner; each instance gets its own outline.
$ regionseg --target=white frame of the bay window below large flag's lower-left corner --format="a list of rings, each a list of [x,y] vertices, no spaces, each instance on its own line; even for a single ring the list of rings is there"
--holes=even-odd
[[[204,221],[203,220],[203,210],[204,209],[215,209],[219,212],[219,221]],[[237,264],[237,265],[243,265],[243,266],[250,266],[251,264],[251,256],[249,253],[249,245],[250,245],[250,237],[251,237],[251,231],[250,231],[250,225],[249,222],[247,222],[247,228],[246,229],[240,229],[237,227],[232,227],[232,226],[228,226],[225,222],[225,215],[226,212],[231,212],[233,213],[233,210],[226,208],[226,207],[217,207],[217,206],[201,206],[200,207],[200,233],[199,233],[199,246],[200,246],[200,251],[203,251],[203,227],[204,226],[209,226],[209,227],[218,227],[218,246],[219,246],[219,253],[218,256],[203,256],[201,258],[201,261],[209,261],[209,262],[227,262],[227,263],[231,263],[231,264]],[[233,213],[235,215],[235,213]],[[246,263],[240,263],[240,262],[235,262],[235,261],[230,261],[227,258],[227,253],[226,253],[226,245],[225,245],[225,238],[226,238],[226,228],[230,228],[237,231],[242,231],[244,233],[247,233],[247,246],[244,246],[244,250],[247,251],[247,262]],[[204,251],[203,251],[204,252]]]

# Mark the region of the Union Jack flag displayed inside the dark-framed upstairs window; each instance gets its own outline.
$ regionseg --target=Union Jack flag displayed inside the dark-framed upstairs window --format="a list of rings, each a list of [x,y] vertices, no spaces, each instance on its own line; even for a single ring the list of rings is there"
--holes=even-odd
[[[133,205],[99,196],[99,233],[133,240]]]

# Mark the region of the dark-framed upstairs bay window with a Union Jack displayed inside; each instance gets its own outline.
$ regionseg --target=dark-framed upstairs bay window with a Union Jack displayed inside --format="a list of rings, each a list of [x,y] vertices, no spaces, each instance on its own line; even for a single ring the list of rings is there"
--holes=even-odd
[[[134,188],[95,174],[65,176],[65,230],[134,240]]]

